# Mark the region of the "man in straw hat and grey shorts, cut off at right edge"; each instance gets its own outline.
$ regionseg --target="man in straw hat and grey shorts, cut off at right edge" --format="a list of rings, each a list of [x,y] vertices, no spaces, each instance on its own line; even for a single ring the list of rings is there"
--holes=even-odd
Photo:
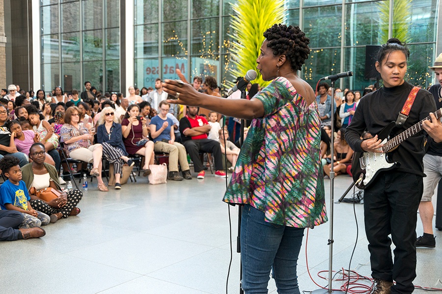
[[[430,93],[433,94],[437,108],[442,107],[442,53],[436,58],[431,69],[436,75],[437,84],[431,86]],[[432,120],[434,123],[439,123]],[[424,130],[432,134],[433,129],[429,122],[423,123]],[[434,137],[434,136],[433,136]],[[419,216],[422,221],[423,235],[417,238],[416,247],[436,247],[436,239],[433,235],[433,215],[434,208],[431,198],[434,190],[442,178],[442,143],[441,140],[429,137],[427,141],[427,153],[423,158],[424,172],[427,175],[424,178],[424,192],[419,204]],[[441,205],[438,203],[438,205]]]

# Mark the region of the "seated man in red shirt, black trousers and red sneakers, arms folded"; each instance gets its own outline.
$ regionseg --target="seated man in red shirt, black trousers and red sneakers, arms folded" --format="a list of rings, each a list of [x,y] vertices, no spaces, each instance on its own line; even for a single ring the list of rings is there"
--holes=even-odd
[[[193,169],[198,173],[197,178],[203,179],[205,174],[199,152],[212,153],[215,160],[215,175],[227,177],[222,171],[220,143],[207,139],[207,133],[211,128],[210,124],[197,113],[198,107],[188,106],[186,116],[180,121],[181,140],[183,140],[183,145],[193,161]]]

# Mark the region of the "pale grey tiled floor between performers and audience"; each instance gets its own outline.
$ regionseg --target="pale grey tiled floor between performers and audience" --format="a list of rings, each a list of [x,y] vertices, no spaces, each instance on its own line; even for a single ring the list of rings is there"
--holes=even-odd
[[[41,239],[1,242],[0,293],[222,294],[230,243],[228,293],[239,293],[237,209],[221,201],[224,179],[207,173],[204,180],[155,186],[146,182],[138,178],[138,183],[120,191],[103,193],[94,181],[80,202],[78,217],[46,226],[47,235]],[[351,183],[348,176],[336,177],[334,199]],[[329,179],[325,185],[330,206]],[[355,210],[359,235],[351,268],[369,275],[362,205],[355,205]],[[333,270],[347,269],[357,233],[353,204],[334,205],[333,232]],[[422,232],[420,221],[417,232]],[[418,249],[415,284],[431,287],[442,280],[442,232],[436,230],[436,235],[435,249]],[[301,291],[319,289],[309,277],[307,260],[313,279],[327,286],[317,273],[329,268],[328,239],[329,223],[309,230],[306,258],[304,237],[298,266]],[[332,285],[338,288],[342,282]],[[276,293],[273,280],[269,292]]]

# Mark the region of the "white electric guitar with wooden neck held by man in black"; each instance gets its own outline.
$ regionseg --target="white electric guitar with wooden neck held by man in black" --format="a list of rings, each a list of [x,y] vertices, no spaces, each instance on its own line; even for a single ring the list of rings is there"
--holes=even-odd
[[[442,117],[442,108],[433,114],[436,119],[439,120]],[[353,154],[351,172],[356,187],[359,189],[365,189],[373,183],[379,172],[399,167],[401,164],[400,162],[393,162],[388,159],[388,152],[391,152],[397,148],[399,144],[420,132],[423,129],[422,122],[427,120],[431,121],[431,117],[426,117],[419,123],[414,124],[409,129],[390,139],[389,134],[396,126],[396,122],[391,122],[378,134],[378,138],[382,140],[381,144],[384,144],[384,146],[381,147],[383,153],[355,152],[355,154]]]

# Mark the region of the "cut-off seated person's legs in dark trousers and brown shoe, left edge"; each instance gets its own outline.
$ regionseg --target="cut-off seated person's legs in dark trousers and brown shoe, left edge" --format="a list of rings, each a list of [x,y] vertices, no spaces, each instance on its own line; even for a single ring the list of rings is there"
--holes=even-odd
[[[19,228],[23,220],[23,215],[18,211],[0,209],[0,241],[26,240],[46,235],[40,227]]]

